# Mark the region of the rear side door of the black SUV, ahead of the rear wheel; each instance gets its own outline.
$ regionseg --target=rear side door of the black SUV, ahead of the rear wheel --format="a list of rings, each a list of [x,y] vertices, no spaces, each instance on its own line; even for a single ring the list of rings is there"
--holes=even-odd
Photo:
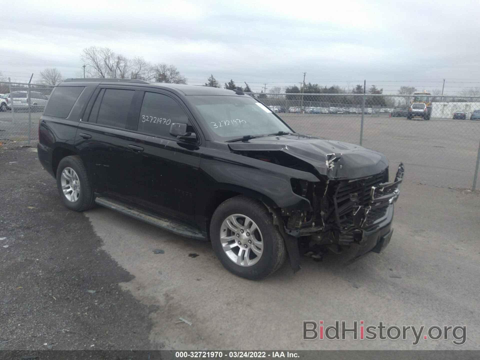
[[[87,164],[95,192],[126,200],[138,194],[131,172],[139,152],[129,144],[135,142],[132,131],[137,127],[132,104],[140,95],[132,87],[100,85],[79,123],[75,147]]]

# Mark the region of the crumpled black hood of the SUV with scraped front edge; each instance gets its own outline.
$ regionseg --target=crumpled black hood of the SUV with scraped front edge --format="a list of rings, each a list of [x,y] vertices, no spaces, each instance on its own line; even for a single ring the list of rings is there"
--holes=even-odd
[[[284,151],[312,164],[321,175],[332,179],[371,176],[388,166],[386,156],[377,151],[301,134],[261,137],[229,143],[228,147],[233,151]]]

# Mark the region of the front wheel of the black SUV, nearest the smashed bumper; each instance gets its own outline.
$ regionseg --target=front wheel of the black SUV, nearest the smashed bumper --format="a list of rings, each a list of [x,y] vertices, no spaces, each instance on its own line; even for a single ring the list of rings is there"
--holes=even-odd
[[[227,270],[251,280],[273,274],[287,257],[282,235],[265,205],[242,195],[217,207],[210,222],[210,240]]]

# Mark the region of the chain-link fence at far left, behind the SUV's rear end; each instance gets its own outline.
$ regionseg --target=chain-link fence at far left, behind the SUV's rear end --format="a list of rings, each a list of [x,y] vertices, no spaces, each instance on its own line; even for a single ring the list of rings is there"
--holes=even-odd
[[[0,143],[24,146],[38,140],[38,120],[53,86],[0,82]]]

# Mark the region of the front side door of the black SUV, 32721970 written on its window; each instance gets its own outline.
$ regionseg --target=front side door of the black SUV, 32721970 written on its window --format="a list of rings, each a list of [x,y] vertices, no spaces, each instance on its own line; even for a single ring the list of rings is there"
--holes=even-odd
[[[134,137],[143,150],[132,171],[138,204],[194,224],[200,141],[179,140],[169,133],[172,123],[186,123],[198,136],[192,115],[168,92],[145,91],[139,105]]]

